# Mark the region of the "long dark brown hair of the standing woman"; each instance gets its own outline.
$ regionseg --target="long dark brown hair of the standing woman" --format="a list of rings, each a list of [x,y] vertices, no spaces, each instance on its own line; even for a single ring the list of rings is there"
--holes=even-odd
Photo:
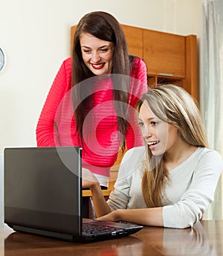
[[[91,88],[87,85],[88,82],[86,80],[90,77],[96,78],[97,76],[95,76],[83,62],[80,48],[81,33],[89,33],[99,39],[113,42],[114,44],[113,68],[111,73],[124,75],[111,76],[114,109],[117,112],[117,129],[120,132],[120,146],[124,149],[126,144],[125,134],[129,126],[129,108],[127,104],[129,103],[128,92],[131,61],[129,61],[129,51],[123,29],[114,16],[103,11],[96,11],[83,16],[74,33],[71,86],[75,87],[78,83],[81,83],[81,86],[77,86],[78,88],[74,90],[73,105],[77,124],[76,132],[83,145],[83,122],[92,106],[92,94],[89,92]],[[86,84],[84,81],[86,81]],[[84,97],[83,94],[89,96]]]

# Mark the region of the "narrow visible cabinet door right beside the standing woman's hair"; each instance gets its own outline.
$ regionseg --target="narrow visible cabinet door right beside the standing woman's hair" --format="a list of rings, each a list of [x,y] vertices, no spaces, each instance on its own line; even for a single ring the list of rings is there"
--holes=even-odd
[[[143,29],[121,25],[129,46],[129,54],[143,58]]]

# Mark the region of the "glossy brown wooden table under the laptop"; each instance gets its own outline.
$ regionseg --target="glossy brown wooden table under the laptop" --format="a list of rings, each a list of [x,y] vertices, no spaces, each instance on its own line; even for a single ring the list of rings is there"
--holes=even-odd
[[[223,220],[204,220],[194,228],[144,227],[129,237],[96,243],[70,243],[0,228],[4,256],[223,255]]]

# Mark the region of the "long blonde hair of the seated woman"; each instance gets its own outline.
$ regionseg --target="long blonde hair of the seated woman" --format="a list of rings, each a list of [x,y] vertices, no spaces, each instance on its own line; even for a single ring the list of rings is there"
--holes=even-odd
[[[172,84],[158,85],[149,89],[138,101],[136,104],[138,112],[143,102],[149,105],[159,119],[177,127],[179,135],[187,144],[207,147],[199,109],[193,97],[184,89]],[[146,167],[142,179],[142,192],[147,207],[161,206],[164,186],[168,179],[163,156],[153,156],[146,144]]]

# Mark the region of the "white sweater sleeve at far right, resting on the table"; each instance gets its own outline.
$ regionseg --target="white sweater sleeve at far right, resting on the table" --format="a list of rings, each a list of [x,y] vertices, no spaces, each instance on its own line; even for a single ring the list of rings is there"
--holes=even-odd
[[[222,168],[222,157],[219,153],[209,150],[201,156],[195,166],[190,187],[178,202],[164,206],[164,227],[193,227],[198,220],[201,220],[204,211],[207,210],[210,202],[213,202]]]

